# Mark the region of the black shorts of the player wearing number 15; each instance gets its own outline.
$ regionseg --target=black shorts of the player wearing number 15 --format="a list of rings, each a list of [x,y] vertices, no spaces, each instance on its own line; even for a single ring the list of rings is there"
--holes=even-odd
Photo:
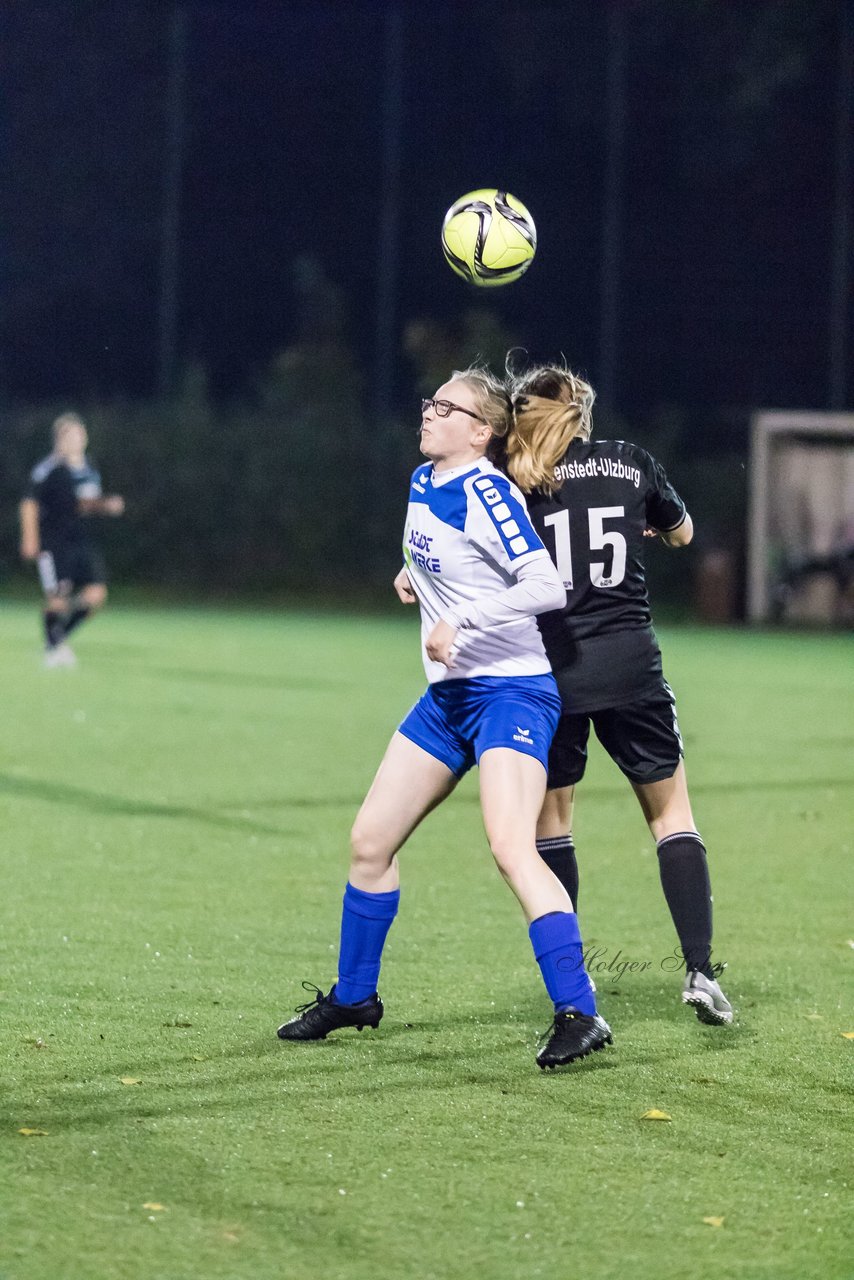
[[[563,712],[548,756],[548,786],[574,786],[588,763],[590,722],[606,751],[630,782],[672,778],[682,758],[673,691],[666,680],[656,694],[629,707]]]

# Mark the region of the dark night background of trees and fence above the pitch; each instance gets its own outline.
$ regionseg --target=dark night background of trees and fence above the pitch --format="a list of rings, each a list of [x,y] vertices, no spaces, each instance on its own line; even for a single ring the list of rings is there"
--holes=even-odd
[[[750,412],[851,403],[850,0],[36,3],[4,27],[8,570],[65,407],[129,500],[120,576],[255,590],[382,579],[419,390],[508,346],[583,371],[597,434],[658,452],[736,568]],[[439,250],[480,186],[538,224],[503,289]]]

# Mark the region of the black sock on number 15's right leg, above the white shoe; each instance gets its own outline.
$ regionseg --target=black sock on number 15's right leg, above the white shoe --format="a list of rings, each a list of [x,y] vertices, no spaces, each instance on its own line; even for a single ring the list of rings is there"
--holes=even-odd
[[[658,844],[661,886],[676,925],[688,972],[712,969],[712,884],[705,846],[695,831],[665,836]]]

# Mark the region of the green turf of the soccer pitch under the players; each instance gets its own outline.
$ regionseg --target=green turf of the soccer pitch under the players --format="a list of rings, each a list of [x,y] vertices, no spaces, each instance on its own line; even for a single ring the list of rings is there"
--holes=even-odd
[[[472,780],[403,855],[380,1030],[275,1039],[334,975],[414,618],[117,608],[72,672],[35,641],[6,608],[3,1280],[851,1275],[849,640],[665,632],[737,1023],[680,1006],[654,849],[595,749],[581,923],[645,968],[595,974],[616,1047],[553,1075]]]

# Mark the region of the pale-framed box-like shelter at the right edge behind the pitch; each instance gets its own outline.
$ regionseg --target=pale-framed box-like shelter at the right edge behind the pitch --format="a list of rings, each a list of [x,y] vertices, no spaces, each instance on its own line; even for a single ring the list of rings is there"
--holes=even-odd
[[[851,620],[854,413],[753,415],[748,525],[752,622]]]

